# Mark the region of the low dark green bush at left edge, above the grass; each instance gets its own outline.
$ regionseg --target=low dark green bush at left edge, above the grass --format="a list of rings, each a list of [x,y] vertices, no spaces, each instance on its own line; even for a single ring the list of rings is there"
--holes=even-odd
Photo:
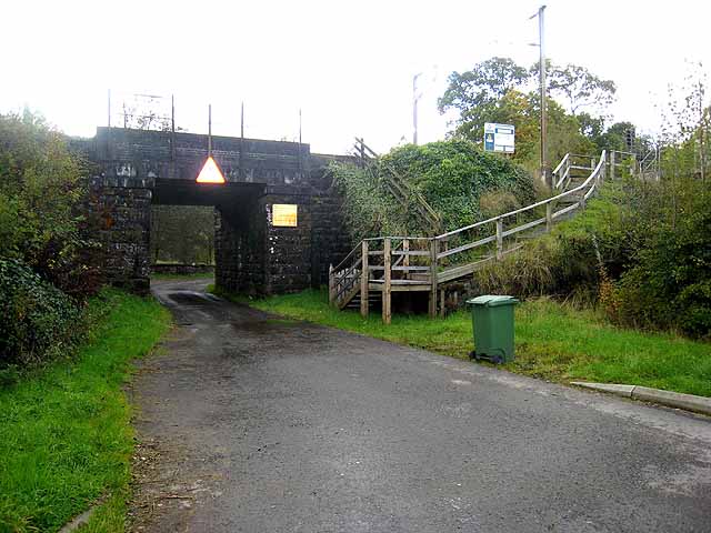
[[[0,259],[0,371],[66,353],[81,331],[80,310],[18,260]]]

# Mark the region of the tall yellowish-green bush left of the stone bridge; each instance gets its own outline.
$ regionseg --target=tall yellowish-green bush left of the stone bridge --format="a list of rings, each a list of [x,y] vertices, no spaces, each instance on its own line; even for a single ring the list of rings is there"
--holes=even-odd
[[[84,164],[29,111],[0,114],[0,258],[23,261],[64,292],[98,289],[84,239]]]

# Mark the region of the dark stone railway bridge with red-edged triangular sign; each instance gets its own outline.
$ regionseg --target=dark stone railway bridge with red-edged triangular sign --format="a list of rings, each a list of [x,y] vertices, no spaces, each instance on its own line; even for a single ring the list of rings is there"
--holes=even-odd
[[[242,293],[298,291],[328,282],[330,263],[350,247],[339,197],[327,172],[337,155],[309,144],[212,137],[227,183],[197,183],[208,135],[98,128],[78,148],[96,165],[90,211],[113,284],[150,286],[152,204],[216,208],[216,283]],[[273,205],[297,209],[297,225],[274,221]],[[293,210],[293,207],[290,208]]]

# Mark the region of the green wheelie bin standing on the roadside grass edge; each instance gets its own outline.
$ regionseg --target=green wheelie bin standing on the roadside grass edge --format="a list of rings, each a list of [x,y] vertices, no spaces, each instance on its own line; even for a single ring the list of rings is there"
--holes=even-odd
[[[471,305],[474,330],[473,359],[493,363],[513,361],[513,308],[519,301],[513,296],[487,294],[467,300]]]

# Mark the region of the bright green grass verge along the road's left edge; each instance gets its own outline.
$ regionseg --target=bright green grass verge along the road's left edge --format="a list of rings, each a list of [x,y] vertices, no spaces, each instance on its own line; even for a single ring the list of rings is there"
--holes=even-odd
[[[116,290],[87,313],[94,325],[74,358],[0,389],[0,532],[57,531],[102,497],[83,531],[123,531],[133,432],[122,385],[170,315]]]

